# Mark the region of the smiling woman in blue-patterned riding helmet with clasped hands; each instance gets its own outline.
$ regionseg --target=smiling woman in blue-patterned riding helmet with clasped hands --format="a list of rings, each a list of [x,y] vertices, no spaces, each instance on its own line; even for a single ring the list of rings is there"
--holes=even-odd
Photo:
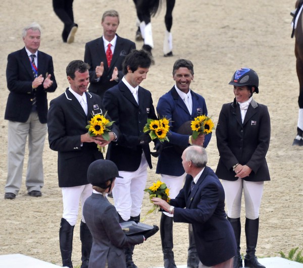
[[[237,242],[234,267],[242,267],[240,253],[241,197],[245,199],[245,267],[265,268],[255,252],[259,232],[259,209],[264,181],[270,180],[266,153],[270,142],[270,116],[266,105],[257,103],[252,93],[259,93],[259,77],[249,68],[237,70],[233,85],[234,101],[223,104],[216,129],[220,154],[217,176],[226,195],[227,219]]]

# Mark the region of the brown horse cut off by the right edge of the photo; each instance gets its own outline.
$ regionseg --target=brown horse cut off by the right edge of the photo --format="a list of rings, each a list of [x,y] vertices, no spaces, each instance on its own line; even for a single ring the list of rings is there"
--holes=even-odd
[[[295,36],[294,53],[296,57],[296,72],[299,80],[300,93],[298,98],[299,115],[297,124],[297,136],[293,140],[292,145],[303,146],[303,0],[297,0],[295,3],[296,11],[294,13],[293,23],[297,21],[296,27],[293,25],[291,37]],[[296,18],[298,16],[298,18]]]

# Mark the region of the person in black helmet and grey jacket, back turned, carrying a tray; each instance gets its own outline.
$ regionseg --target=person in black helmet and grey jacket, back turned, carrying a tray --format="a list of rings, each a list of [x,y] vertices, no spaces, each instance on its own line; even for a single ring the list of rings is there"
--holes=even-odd
[[[92,185],[92,195],[83,206],[83,215],[92,235],[89,268],[126,268],[124,247],[143,243],[156,234],[158,226],[142,234],[127,236],[119,224],[119,215],[107,195],[115,187],[118,168],[111,160],[95,160],[87,170],[87,180]],[[123,179],[123,178],[122,178]]]

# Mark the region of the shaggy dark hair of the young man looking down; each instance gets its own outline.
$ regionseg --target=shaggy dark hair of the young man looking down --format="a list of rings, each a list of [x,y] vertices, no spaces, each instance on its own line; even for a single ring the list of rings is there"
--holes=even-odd
[[[136,71],[139,67],[141,68],[149,68],[151,65],[150,56],[143,49],[136,50],[133,49],[131,52],[125,57],[123,62],[123,74],[127,74],[127,67],[130,68],[132,72]]]

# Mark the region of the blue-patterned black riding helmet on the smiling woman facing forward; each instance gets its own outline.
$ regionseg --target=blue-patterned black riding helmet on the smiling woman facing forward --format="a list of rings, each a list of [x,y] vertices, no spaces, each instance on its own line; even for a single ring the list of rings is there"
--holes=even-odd
[[[259,77],[257,73],[249,68],[241,68],[233,74],[229,85],[234,86],[253,86],[255,92],[259,93]]]

